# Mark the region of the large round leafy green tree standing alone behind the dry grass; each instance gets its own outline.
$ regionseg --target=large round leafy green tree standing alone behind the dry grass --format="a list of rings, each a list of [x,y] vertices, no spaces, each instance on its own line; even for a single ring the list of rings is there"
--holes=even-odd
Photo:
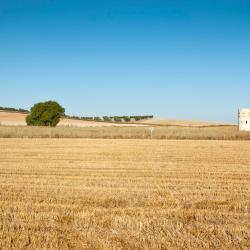
[[[55,127],[65,109],[55,101],[39,102],[31,108],[30,115],[26,117],[29,126],[50,126]]]

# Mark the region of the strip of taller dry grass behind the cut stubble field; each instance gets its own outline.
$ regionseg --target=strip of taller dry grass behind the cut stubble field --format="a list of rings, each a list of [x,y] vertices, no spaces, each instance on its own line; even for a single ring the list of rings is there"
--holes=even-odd
[[[108,139],[201,139],[250,140],[249,132],[237,126],[218,127],[18,127],[0,126],[0,138],[108,138]]]

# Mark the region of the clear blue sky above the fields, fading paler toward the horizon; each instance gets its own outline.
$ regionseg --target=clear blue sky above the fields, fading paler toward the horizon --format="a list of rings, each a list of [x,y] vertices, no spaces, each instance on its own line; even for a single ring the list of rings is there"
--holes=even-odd
[[[0,0],[0,106],[236,122],[249,0]]]

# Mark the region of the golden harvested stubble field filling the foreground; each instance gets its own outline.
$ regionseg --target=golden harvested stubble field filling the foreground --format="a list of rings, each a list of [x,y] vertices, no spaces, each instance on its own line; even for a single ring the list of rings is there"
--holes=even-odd
[[[250,142],[0,139],[0,249],[249,249]]]

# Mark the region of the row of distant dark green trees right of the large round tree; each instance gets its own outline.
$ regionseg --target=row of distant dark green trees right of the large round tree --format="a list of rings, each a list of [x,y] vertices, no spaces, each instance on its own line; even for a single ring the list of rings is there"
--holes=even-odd
[[[141,121],[146,119],[154,118],[153,115],[135,115],[135,116],[95,116],[95,117],[80,117],[80,116],[69,116],[66,115],[65,118],[83,120],[83,121],[104,121],[104,122],[131,122],[131,121]]]

